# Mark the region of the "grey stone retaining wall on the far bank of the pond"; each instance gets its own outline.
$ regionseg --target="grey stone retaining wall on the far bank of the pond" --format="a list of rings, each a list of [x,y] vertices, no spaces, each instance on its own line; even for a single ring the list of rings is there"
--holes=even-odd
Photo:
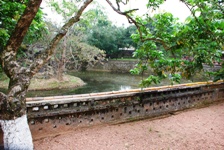
[[[130,60],[108,60],[103,63],[97,63],[93,67],[89,67],[87,70],[89,71],[110,71],[110,72],[129,72],[131,69],[135,67],[137,61]]]

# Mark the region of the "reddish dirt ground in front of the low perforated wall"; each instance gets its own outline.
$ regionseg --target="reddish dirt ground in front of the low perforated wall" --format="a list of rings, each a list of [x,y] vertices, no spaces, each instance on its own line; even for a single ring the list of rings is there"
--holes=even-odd
[[[224,150],[224,102],[165,118],[79,128],[35,150]]]

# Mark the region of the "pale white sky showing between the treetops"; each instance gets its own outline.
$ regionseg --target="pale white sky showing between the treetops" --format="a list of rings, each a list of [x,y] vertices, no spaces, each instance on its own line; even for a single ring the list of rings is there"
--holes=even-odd
[[[105,0],[96,0],[100,5],[105,8],[105,11],[109,17],[109,19],[118,26],[128,26],[128,20],[126,17],[117,14],[113,9],[107,4]],[[114,0],[111,0],[114,1]],[[130,0],[129,4],[123,7],[123,10],[130,10],[138,8],[139,10],[136,12],[137,15],[141,16],[145,12],[149,15],[153,15],[157,12],[167,11],[174,15],[174,17],[179,18],[181,22],[185,20],[187,16],[190,15],[190,11],[188,8],[180,2],[180,0],[166,0],[163,5],[160,6],[159,10],[151,11],[146,8],[147,0]],[[58,16],[56,13],[52,12],[49,7],[46,5],[46,1],[43,1],[41,7],[44,8],[44,12],[47,14],[47,18],[51,18],[53,22],[60,23],[62,21],[62,17]],[[122,8],[122,7],[121,7]]]

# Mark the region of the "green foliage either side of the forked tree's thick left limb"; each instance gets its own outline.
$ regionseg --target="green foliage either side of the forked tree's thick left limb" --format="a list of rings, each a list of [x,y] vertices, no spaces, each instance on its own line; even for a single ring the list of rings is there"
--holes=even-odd
[[[0,0],[0,48],[6,45],[10,35],[12,34],[17,21],[26,8],[27,0]],[[31,44],[35,40],[41,37],[41,31],[45,30],[45,24],[43,21],[43,12],[38,11],[32,24],[29,27],[29,31],[23,41],[23,44]]]

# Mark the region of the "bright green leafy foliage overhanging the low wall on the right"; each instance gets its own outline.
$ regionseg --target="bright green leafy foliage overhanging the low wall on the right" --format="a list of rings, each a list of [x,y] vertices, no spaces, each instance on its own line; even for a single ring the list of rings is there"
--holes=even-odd
[[[148,7],[158,7],[163,1],[149,1]],[[183,1],[192,11],[184,23],[179,23],[170,13],[136,17],[138,33],[131,37],[140,43],[134,57],[139,59],[131,73],[141,74],[152,68],[154,75],[142,81],[142,86],[159,83],[168,78],[171,84],[182,77],[191,79],[203,70],[203,65],[222,63],[224,50],[223,2],[207,0]],[[223,69],[215,80],[222,79]]]

